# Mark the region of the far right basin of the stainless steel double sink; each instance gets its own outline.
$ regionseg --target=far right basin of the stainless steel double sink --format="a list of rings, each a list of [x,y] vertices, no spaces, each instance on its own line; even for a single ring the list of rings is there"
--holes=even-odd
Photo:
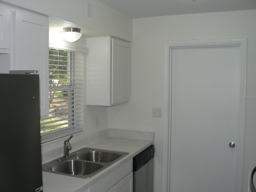
[[[116,152],[90,150],[77,156],[78,159],[92,162],[112,162],[120,158],[122,154]]]

